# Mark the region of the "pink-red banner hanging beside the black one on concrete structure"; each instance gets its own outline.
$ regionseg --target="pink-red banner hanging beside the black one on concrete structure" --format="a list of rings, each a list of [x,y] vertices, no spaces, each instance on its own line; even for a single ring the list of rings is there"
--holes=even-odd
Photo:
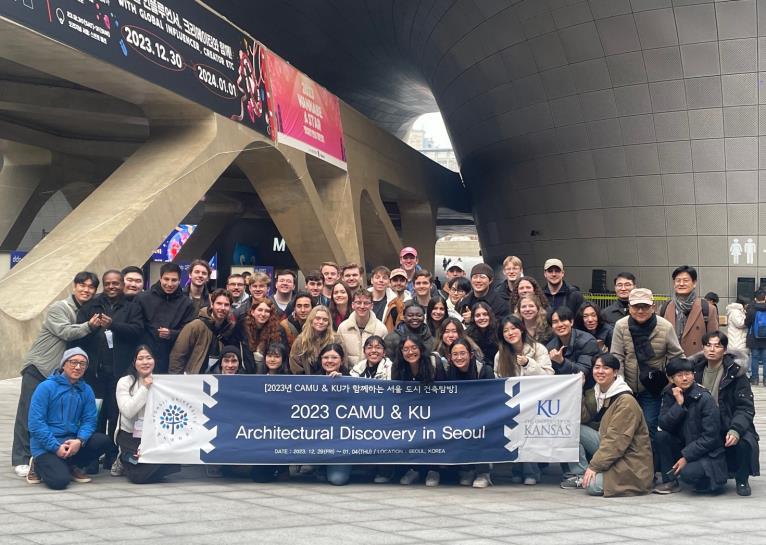
[[[268,49],[265,53],[277,142],[346,170],[338,97]]]

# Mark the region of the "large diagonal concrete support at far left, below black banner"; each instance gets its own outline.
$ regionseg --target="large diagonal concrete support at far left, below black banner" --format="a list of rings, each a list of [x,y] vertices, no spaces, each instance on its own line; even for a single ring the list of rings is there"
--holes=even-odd
[[[152,137],[0,280],[0,377],[18,372],[44,309],[78,271],[143,263],[242,149],[270,147],[218,115],[194,107],[183,114],[183,124],[157,122]]]

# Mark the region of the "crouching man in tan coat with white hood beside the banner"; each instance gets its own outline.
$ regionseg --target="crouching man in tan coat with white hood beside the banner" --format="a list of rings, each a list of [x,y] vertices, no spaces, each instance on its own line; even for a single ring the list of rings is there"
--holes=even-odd
[[[649,430],[619,370],[620,360],[613,354],[600,355],[593,364],[597,412],[583,414],[583,422],[599,422],[599,439],[582,477],[582,487],[591,496],[634,496],[652,489]]]

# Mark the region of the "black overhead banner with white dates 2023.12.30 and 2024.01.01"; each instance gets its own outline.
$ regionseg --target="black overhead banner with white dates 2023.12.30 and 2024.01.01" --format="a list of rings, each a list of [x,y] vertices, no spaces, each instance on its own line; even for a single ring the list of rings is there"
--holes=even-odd
[[[0,16],[274,137],[264,48],[197,2],[5,1]]]

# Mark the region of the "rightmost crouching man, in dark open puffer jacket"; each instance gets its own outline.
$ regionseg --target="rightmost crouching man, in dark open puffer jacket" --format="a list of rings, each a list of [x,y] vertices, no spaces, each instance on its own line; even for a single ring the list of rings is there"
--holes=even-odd
[[[750,475],[760,474],[758,434],[753,417],[753,391],[746,368],[727,352],[729,338],[720,331],[702,337],[702,354],[692,358],[694,379],[713,395],[721,412],[721,434],[729,474],[734,475],[737,494],[750,495]]]

